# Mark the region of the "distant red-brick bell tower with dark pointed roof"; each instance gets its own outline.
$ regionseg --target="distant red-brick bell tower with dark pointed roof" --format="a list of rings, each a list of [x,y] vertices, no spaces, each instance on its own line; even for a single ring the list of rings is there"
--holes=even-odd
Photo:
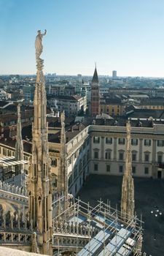
[[[98,72],[95,67],[95,72],[93,75],[92,85],[91,85],[91,116],[97,116],[100,113],[100,93],[99,93],[99,83],[98,83]]]

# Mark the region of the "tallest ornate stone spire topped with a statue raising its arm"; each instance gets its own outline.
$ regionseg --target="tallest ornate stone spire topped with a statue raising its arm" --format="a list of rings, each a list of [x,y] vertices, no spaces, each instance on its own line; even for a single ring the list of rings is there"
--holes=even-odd
[[[34,93],[34,123],[32,127],[32,157],[28,176],[28,211],[33,230],[38,233],[38,246],[45,255],[52,254],[52,178],[47,140],[47,99],[44,86],[42,37],[36,36],[36,86]]]

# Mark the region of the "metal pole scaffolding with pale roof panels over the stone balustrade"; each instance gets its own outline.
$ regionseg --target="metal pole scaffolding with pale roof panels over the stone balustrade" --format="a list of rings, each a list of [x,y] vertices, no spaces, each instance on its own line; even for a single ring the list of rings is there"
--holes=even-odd
[[[59,225],[64,218],[63,226]],[[74,199],[54,221],[58,223],[55,227],[58,233],[54,232],[54,245],[52,243],[55,252],[67,246],[77,256],[133,255],[142,233],[141,220],[137,217],[122,219],[120,211],[102,201],[93,208],[89,203]]]

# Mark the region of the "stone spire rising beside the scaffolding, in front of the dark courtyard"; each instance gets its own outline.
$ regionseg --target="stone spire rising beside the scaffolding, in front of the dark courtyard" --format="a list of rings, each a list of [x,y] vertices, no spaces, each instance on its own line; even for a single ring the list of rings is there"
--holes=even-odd
[[[131,166],[131,135],[130,122],[126,125],[126,159],[125,159],[125,173],[122,179],[122,197],[121,197],[121,214],[122,219],[129,219],[134,216],[134,183],[132,177]]]

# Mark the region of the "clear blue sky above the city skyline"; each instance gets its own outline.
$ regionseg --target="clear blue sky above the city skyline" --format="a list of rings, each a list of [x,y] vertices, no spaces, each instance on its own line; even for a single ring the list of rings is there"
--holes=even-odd
[[[164,77],[164,0],[0,0],[0,74]]]

